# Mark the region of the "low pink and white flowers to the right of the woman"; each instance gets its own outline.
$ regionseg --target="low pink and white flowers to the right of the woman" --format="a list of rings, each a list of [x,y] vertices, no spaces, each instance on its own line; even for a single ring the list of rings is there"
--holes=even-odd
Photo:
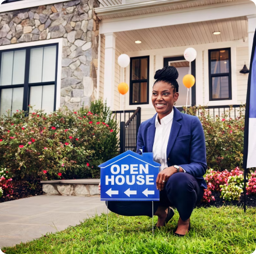
[[[247,194],[256,194],[256,172],[249,174],[249,182],[246,183]],[[210,202],[214,200],[212,191],[221,192],[222,198],[226,201],[239,200],[244,188],[244,172],[238,167],[230,172],[224,170],[222,172],[209,169],[206,172],[205,180],[208,189],[205,189],[202,202]]]

